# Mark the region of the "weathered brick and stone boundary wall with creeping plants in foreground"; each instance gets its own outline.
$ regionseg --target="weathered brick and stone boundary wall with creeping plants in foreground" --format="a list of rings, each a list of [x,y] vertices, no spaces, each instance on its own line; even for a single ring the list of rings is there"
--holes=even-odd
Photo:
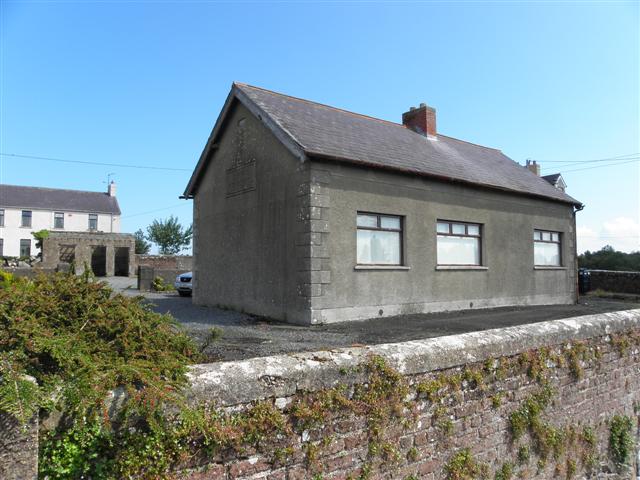
[[[621,345],[633,346],[623,351]],[[408,388],[402,411],[375,403],[384,399],[372,401],[385,417],[375,425],[375,410],[360,415],[357,408],[326,403],[337,386],[347,398],[339,396],[338,403],[347,403],[355,392],[378,384],[362,368],[372,358],[399,372]],[[500,377],[502,365],[509,367]],[[544,382],[534,374],[537,369],[546,372]],[[484,372],[480,381],[478,372]],[[291,426],[288,434],[200,458],[181,471],[190,480],[436,480],[481,478],[483,472],[486,478],[511,478],[501,469],[511,469],[513,478],[584,478],[586,470],[597,472],[598,478],[635,478],[631,472],[636,466],[620,471],[613,466],[608,439],[613,415],[632,418],[637,429],[640,310],[197,365],[190,375],[194,403],[212,403],[229,415],[267,404]],[[438,393],[430,390],[447,382],[457,385],[455,391],[447,393],[452,387],[446,386]],[[549,405],[540,418],[530,420],[535,427],[514,439],[510,416],[546,386],[553,392]],[[393,389],[384,395],[392,398]],[[319,408],[315,414],[320,420],[301,429],[301,412],[312,408]],[[547,432],[537,435],[547,435],[549,442],[556,438],[544,462],[537,451],[551,446],[540,444],[534,428]],[[585,432],[593,433],[593,444],[586,443]],[[478,470],[456,477],[451,470],[456,465]]]

